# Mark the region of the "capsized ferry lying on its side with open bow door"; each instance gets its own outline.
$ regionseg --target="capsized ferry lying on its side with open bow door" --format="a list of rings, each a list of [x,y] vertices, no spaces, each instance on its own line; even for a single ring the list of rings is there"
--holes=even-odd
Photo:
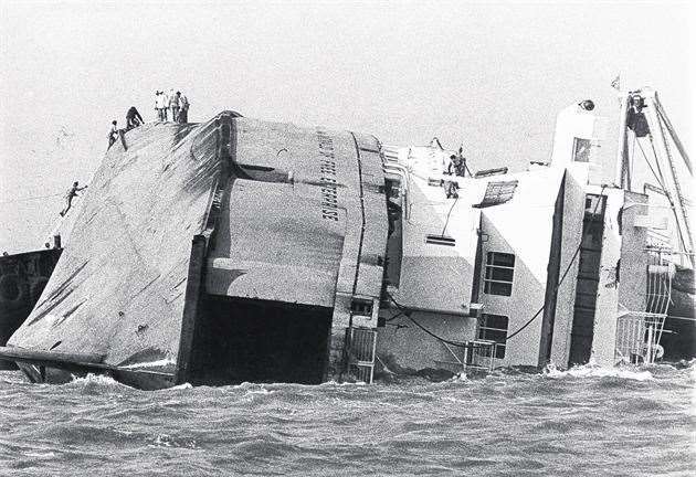
[[[466,177],[436,145],[234,112],[133,129],[0,357],[143,389],[652,361],[694,255],[685,209],[628,182],[626,141],[665,123],[637,98],[657,110],[623,94],[613,129],[572,105],[548,163]],[[681,200],[669,178],[657,195]]]

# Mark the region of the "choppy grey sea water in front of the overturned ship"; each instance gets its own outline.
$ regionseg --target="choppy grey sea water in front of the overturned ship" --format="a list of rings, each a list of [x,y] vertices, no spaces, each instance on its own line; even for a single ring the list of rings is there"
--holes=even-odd
[[[0,474],[696,475],[696,369],[145,392],[0,372]]]

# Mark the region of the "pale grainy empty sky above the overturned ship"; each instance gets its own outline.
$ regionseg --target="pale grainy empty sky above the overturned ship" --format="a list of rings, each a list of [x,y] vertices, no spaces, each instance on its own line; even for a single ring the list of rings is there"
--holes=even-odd
[[[548,160],[557,113],[615,115],[650,85],[694,145],[687,2],[0,1],[0,250],[41,247],[110,121],[183,92],[189,120],[224,109],[463,145],[476,169]],[[693,155],[692,155],[693,156]]]

